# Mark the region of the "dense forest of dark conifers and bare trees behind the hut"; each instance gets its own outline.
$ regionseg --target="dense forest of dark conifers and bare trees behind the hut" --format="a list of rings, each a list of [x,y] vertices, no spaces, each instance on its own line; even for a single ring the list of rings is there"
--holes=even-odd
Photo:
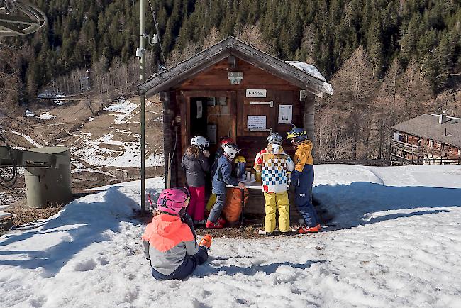
[[[0,39],[0,108],[45,88],[133,90],[139,1],[35,0],[42,31]],[[148,75],[233,35],[282,60],[315,65],[333,85],[316,103],[318,159],[389,156],[390,127],[423,113],[461,116],[461,1],[150,0]],[[74,82],[89,76],[89,87]]]

